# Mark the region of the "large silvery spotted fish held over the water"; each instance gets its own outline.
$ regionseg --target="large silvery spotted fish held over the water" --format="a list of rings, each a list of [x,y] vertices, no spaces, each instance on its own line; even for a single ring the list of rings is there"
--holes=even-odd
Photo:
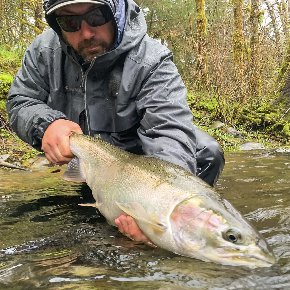
[[[130,215],[155,245],[203,261],[252,268],[275,262],[263,236],[196,175],[101,138],[72,134],[69,143],[77,157],[62,178],[86,181],[110,225]]]

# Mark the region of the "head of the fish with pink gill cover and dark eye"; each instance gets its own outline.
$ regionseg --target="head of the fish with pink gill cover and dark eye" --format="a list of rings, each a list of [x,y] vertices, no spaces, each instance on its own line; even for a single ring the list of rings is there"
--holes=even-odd
[[[210,208],[207,198],[196,196],[178,204],[170,216],[177,254],[224,265],[269,267],[275,256],[265,239],[232,208]],[[218,208],[220,207],[220,208]],[[228,207],[228,204],[227,204]],[[231,215],[238,219],[231,221]],[[231,232],[239,236],[235,242]]]

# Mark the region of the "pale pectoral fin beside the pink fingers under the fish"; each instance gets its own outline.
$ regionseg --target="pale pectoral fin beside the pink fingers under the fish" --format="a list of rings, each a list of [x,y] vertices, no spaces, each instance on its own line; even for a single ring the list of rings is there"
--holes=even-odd
[[[120,207],[125,213],[129,216],[132,216],[134,219],[144,222],[148,225],[151,225],[155,230],[160,232],[165,232],[167,230],[167,226],[161,224],[156,219],[151,218],[144,207],[138,202],[124,202],[119,203],[116,202],[117,206]]]

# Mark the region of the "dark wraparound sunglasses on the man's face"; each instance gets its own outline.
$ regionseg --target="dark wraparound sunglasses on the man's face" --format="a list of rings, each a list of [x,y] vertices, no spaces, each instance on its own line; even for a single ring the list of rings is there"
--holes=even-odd
[[[112,12],[107,5],[97,7],[83,15],[57,16],[56,20],[60,28],[66,32],[80,30],[82,20],[90,26],[101,26],[112,20]]]

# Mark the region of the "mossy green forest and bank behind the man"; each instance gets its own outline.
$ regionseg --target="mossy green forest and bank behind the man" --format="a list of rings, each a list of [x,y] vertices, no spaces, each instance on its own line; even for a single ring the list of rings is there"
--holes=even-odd
[[[149,36],[173,51],[197,126],[225,150],[245,141],[290,146],[289,0],[136,2]],[[42,4],[0,0],[0,154],[22,166],[37,152],[10,128],[5,100],[26,48],[49,28]],[[243,137],[211,128],[214,121]]]

